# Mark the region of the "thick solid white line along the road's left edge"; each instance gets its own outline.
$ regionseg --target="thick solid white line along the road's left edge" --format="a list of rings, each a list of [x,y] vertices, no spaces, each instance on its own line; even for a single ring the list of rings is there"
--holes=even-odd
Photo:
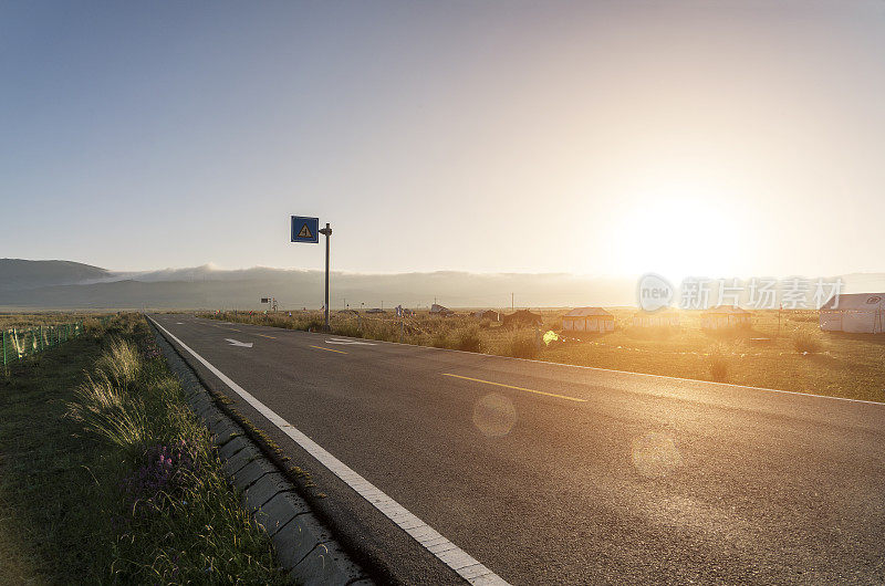
[[[405,506],[397,503],[383,491],[374,486],[366,479],[356,473],[353,469],[348,468],[344,462],[329,453],[319,443],[310,439],[308,436],[295,429],[285,419],[273,412],[263,402],[250,395],[246,389],[231,380],[221,370],[209,364],[209,362],[190,349],[187,344],[175,337],[171,332],[159,325],[153,317],[148,320],[154,322],[154,325],[166,332],[179,346],[186,349],[191,356],[198,359],[206,368],[208,368],[215,376],[221,379],[230,389],[242,397],[246,402],[251,405],[262,416],[264,416],[271,423],[277,426],[283,433],[289,436],[295,443],[301,446],[308,453],[313,456],[321,464],[327,468],[333,474],[339,477],[345,484],[351,486],[363,499],[368,501],[372,506],[379,511],[384,516],[393,521],[397,526],[403,529],[409,536],[417,541],[421,547],[427,550],[437,559],[446,564],[449,568],[456,572],[459,576],[466,579],[469,584],[497,584],[507,585],[508,583],[494,574],[491,569],[483,566],[471,557],[467,552],[442,537],[440,533],[430,527],[427,523],[412,514]],[[378,500],[383,502],[376,502]],[[381,506],[379,506],[381,505]],[[440,545],[446,545],[440,547]],[[431,550],[433,547],[433,550]],[[444,550],[440,553],[436,551]]]

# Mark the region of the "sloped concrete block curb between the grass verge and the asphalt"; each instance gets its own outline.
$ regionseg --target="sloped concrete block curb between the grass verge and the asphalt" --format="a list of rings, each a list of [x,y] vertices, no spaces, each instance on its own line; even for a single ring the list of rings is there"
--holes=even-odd
[[[242,416],[225,404],[226,397],[210,394],[178,349],[150,325],[190,409],[209,429],[225,475],[240,494],[242,506],[270,536],[277,559],[290,576],[305,585],[374,584],[298,494],[288,478],[293,470],[281,469],[266,456],[273,448],[253,441],[250,430],[237,420]]]

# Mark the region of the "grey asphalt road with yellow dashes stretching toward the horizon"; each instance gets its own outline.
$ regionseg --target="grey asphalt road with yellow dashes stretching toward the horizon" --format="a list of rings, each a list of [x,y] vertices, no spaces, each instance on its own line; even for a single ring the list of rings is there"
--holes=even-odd
[[[512,584],[885,583],[883,405],[153,317]],[[461,583],[186,358],[382,576]]]

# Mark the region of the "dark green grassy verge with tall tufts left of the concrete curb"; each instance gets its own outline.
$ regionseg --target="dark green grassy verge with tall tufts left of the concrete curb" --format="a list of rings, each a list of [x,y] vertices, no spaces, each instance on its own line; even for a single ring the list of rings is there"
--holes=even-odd
[[[0,379],[0,584],[287,583],[146,322],[108,329]]]

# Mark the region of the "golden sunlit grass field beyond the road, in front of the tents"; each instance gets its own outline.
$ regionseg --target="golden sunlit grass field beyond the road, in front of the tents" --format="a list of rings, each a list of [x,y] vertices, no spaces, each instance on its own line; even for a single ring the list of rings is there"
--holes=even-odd
[[[629,325],[635,310],[611,312],[614,332],[549,343],[541,338],[561,332],[564,310],[541,311],[539,328],[509,329],[467,313],[442,318],[425,312],[400,321],[392,313],[334,312],[330,322],[339,335],[885,401],[885,335],[821,332],[813,311],[783,311],[780,317],[777,311],[758,311],[749,328],[720,332],[701,329],[696,312],[680,312],[680,325],[673,328],[635,328]],[[199,315],[316,332],[323,326],[319,312]]]

